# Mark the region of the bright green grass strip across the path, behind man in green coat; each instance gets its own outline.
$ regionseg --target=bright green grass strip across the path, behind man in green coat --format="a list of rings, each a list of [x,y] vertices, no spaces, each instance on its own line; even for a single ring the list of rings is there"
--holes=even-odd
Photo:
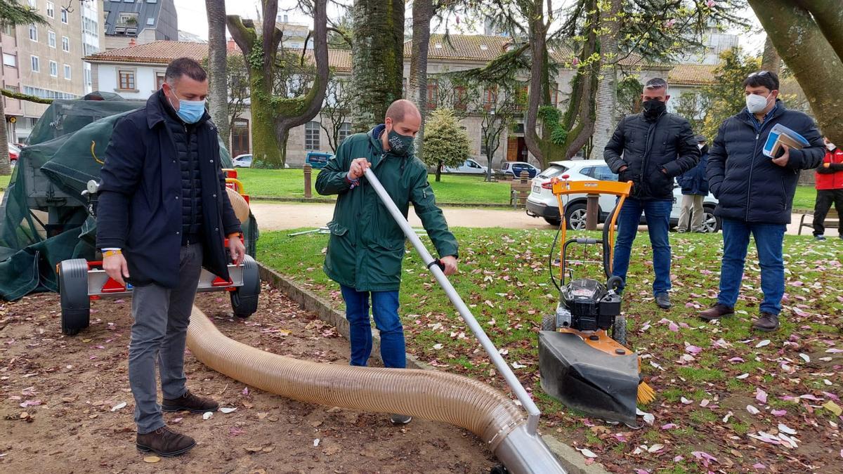
[[[319,170],[314,170],[313,180]],[[239,168],[239,178],[243,181],[246,191],[256,197],[304,197],[303,170],[251,170]],[[483,177],[443,175],[442,180],[436,182],[430,177],[433,192],[438,202],[459,203],[495,203],[507,205],[509,203],[509,183],[486,183]],[[314,197],[319,197],[314,189]],[[333,197],[329,197],[333,198]]]

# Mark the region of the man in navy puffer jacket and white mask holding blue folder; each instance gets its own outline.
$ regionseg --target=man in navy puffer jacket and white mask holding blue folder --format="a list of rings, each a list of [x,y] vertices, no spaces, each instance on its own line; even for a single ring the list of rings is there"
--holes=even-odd
[[[781,244],[791,220],[799,171],[819,166],[824,145],[811,117],[787,110],[778,100],[776,73],[750,74],[744,80],[744,94],[746,108],[723,121],[708,153],[706,172],[711,193],[719,201],[715,213],[722,221],[723,260],[717,303],[702,311],[700,317],[716,320],[733,314],[752,234],[764,293],[760,317],[752,326],[759,331],[775,331],[785,292]],[[776,124],[801,134],[809,145],[802,149],[782,145],[776,158],[765,156],[764,144]]]

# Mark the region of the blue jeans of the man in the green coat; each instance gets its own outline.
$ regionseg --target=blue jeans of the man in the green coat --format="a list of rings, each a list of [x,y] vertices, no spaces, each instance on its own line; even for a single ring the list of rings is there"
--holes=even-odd
[[[372,295],[374,325],[380,331],[380,358],[384,367],[404,369],[404,327],[398,317],[397,291],[357,291],[340,285],[346,301],[346,319],[351,332],[352,365],[365,366],[372,354],[372,323],[369,322],[369,294]]]

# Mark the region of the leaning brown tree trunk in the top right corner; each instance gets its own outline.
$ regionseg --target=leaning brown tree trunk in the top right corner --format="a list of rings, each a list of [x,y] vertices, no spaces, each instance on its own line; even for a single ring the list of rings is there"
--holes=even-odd
[[[787,0],[749,0],[749,5],[805,91],[819,127],[832,141],[843,142],[843,66],[835,53],[843,45],[830,43],[840,35],[827,38],[816,15]]]

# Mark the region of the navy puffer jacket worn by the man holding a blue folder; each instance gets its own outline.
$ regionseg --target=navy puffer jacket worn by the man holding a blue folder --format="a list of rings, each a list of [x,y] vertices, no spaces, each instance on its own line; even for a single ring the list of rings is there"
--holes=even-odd
[[[711,193],[719,200],[717,216],[748,223],[790,224],[799,171],[819,166],[825,148],[811,117],[787,110],[781,101],[771,114],[759,130],[754,117],[744,109],[723,121],[717,131],[706,169]],[[810,143],[801,150],[791,148],[785,166],[761,153],[776,123],[801,134]]]

